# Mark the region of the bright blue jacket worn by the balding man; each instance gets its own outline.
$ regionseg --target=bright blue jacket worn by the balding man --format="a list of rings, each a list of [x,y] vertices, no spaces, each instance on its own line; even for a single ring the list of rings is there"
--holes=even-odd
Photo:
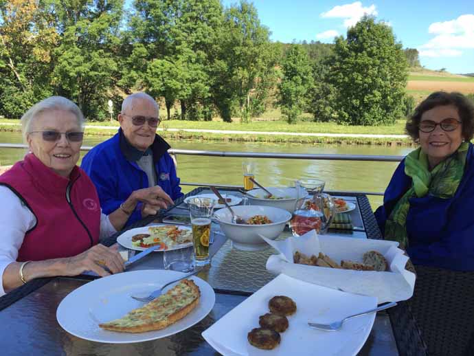
[[[117,210],[137,189],[148,188],[148,177],[136,162],[127,159],[127,144],[122,129],[111,139],[98,144],[82,159],[81,168],[91,177],[97,188],[100,207],[104,214]],[[157,184],[171,197],[183,195],[171,156],[170,145],[156,135],[150,146],[156,169]],[[126,225],[142,219],[141,204],[137,205]]]

